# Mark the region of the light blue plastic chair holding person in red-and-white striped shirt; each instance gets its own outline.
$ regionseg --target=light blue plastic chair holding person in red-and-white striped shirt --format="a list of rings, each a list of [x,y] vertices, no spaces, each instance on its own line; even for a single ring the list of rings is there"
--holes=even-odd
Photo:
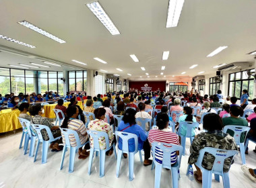
[[[156,155],[157,150],[162,150],[163,158],[162,158],[162,164],[157,162]],[[160,181],[161,181],[161,173],[162,168],[170,169],[172,171],[172,187],[177,188],[178,181],[179,181],[179,169],[181,166],[181,152],[183,150],[182,146],[178,146],[175,144],[165,144],[161,142],[153,142],[152,143],[152,156],[153,156],[153,162],[152,162],[152,170],[154,167],[156,167],[155,170],[155,188],[160,188]],[[156,152],[157,151],[157,152]],[[170,155],[172,152],[179,151],[180,155],[177,156],[177,162],[173,165],[170,164]],[[164,187],[164,186],[162,186]]]

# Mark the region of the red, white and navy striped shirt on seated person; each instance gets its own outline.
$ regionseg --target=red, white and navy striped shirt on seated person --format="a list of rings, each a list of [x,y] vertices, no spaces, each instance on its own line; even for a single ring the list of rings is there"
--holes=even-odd
[[[176,144],[179,145],[179,137],[177,134],[170,132],[167,128],[163,130],[158,130],[158,129],[152,129],[150,130],[148,134],[148,141],[150,144],[153,142],[162,142],[166,144]],[[163,152],[160,150],[160,148],[156,147],[156,162],[159,164],[162,164],[162,158],[163,158]],[[152,154],[153,155],[153,154]],[[177,162],[177,154],[176,152],[172,152],[170,155],[170,164],[175,164]]]

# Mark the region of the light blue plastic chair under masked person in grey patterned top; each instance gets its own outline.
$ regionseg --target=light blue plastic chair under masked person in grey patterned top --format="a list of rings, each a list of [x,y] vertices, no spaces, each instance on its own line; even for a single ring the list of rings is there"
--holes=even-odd
[[[38,138],[38,141],[36,144],[36,153],[34,155],[34,162],[36,162],[39,144],[42,143],[42,164],[44,164],[44,163],[46,163],[46,160],[47,160],[47,152],[48,152],[49,144],[55,140],[59,140],[59,138],[61,138],[61,136],[54,138],[50,128],[47,126],[43,126],[43,125],[39,125],[39,124],[31,124],[31,126],[34,128],[34,130],[36,130],[36,136]],[[46,130],[46,132],[49,136],[49,140],[44,140],[42,138],[41,130],[44,130],[44,129]]]

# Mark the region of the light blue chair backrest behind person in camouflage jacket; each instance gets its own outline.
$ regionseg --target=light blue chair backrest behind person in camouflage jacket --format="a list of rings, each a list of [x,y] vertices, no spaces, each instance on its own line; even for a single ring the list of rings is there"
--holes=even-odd
[[[205,155],[205,152],[208,152],[215,157],[212,171],[218,175],[223,175],[224,160],[228,157],[234,157],[234,155],[237,154],[237,151],[235,150],[222,150],[219,148],[205,147],[199,151],[197,164],[201,164],[203,162],[203,156]]]

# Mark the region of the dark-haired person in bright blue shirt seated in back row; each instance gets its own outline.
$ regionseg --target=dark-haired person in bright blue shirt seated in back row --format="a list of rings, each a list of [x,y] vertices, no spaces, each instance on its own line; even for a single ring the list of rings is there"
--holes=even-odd
[[[143,129],[141,128],[141,126],[136,124],[135,121],[135,114],[136,111],[134,109],[127,109],[127,111],[125,111],[125,114],[123,116],[123,120],[120,122],[119,126],[118,126],[118,131],[120,132],[129,132],[132,134],[136,134],[138,137],[138,150],[141,150],[143,148],[144,150],[144,166],[148,166],[150,164],[152,164],[152,160],[150,160],[150,144],[148,143],[148,139],[147,139],[147,135],[145,134],[145,132],[143,131]],[[146,144],[147,142],[147,144]],[[133,139],[130,139],[128,141],[129,144],[129,151],[133,152],[135,150],[135,144]],[[123,148],[123,143],[122,143],[122,139],[119,139],[119,149]],[[127,154],[124,154],[125,158],[127,157]]]

